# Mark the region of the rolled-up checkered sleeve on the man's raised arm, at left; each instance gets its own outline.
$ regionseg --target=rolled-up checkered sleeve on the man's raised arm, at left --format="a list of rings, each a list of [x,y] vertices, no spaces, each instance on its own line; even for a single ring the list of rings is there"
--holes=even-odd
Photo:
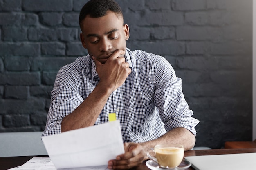
[[[83,102],[83,98],[76,91],[77,83],[78,80],[69,71],[60,69],[51,93],[51,104],[42,136],[60,133],[62,119]]]

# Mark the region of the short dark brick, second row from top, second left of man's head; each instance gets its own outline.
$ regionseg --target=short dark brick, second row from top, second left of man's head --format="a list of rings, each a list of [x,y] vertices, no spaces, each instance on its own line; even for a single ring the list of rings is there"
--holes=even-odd
[[[56,26],[62,23],[62,13],[43,12],[40,13],[42,23],[48,26]]]

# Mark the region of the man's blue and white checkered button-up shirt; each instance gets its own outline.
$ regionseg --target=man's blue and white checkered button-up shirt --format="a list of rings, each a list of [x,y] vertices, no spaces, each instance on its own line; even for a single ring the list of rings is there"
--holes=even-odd
[[[198,120],[182,93],[182,81],[161,56],[126,49],[132,72],[105,104],[95,125],[108,122],[117,113],[124,142],[144,142],[166,131],[183,127],[196,134]],[[60,69],[52,90],[43,136],[61,132],[61,120],[78,107],[97,86],[99,77],[90,56],[79,57]]]

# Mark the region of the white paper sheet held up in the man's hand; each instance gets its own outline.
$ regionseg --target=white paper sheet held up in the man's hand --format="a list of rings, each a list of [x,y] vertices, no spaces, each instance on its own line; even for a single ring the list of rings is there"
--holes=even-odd
[[[124,153],[119,120],[42,138],[56,168],[108,165]]]

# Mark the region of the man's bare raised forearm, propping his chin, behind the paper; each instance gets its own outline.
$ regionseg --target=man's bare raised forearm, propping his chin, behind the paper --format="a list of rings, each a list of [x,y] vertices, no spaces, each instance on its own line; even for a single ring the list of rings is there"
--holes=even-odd
[[[63,118],[61,132],[94,125],[111,93],[99,83],[80,106]]]

